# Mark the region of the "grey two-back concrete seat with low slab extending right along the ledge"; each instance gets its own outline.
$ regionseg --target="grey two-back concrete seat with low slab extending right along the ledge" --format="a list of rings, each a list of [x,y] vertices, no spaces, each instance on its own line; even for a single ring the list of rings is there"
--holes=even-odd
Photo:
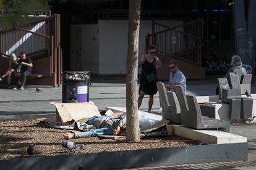
[[[228,121],[202,116],[194,95],[185,95],[181,86],[176,86],[175,91],[181,106],[181,124],[195,129],[220,129],[229,132],[230,123]]]

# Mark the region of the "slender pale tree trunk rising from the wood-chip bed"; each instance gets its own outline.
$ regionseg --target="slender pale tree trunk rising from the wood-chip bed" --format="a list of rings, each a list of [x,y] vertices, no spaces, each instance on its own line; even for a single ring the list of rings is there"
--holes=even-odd
[[[126,61],[126,137],[130,142],[140,141],[137,102],[140,2],[141,0],[129,0],[128,54]]]

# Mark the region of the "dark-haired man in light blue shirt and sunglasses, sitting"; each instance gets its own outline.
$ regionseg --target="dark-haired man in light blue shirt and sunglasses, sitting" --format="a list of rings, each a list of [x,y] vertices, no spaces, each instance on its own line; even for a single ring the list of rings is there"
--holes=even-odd
[[[171,60],[169,62],[168,68],[171,71],[169,76],[169,84],[167,85],[168,89],[173,90],[175,89],[175,85],[181,85],[186,92],[186,77],[177,68],[177,63],[174,60]]]

